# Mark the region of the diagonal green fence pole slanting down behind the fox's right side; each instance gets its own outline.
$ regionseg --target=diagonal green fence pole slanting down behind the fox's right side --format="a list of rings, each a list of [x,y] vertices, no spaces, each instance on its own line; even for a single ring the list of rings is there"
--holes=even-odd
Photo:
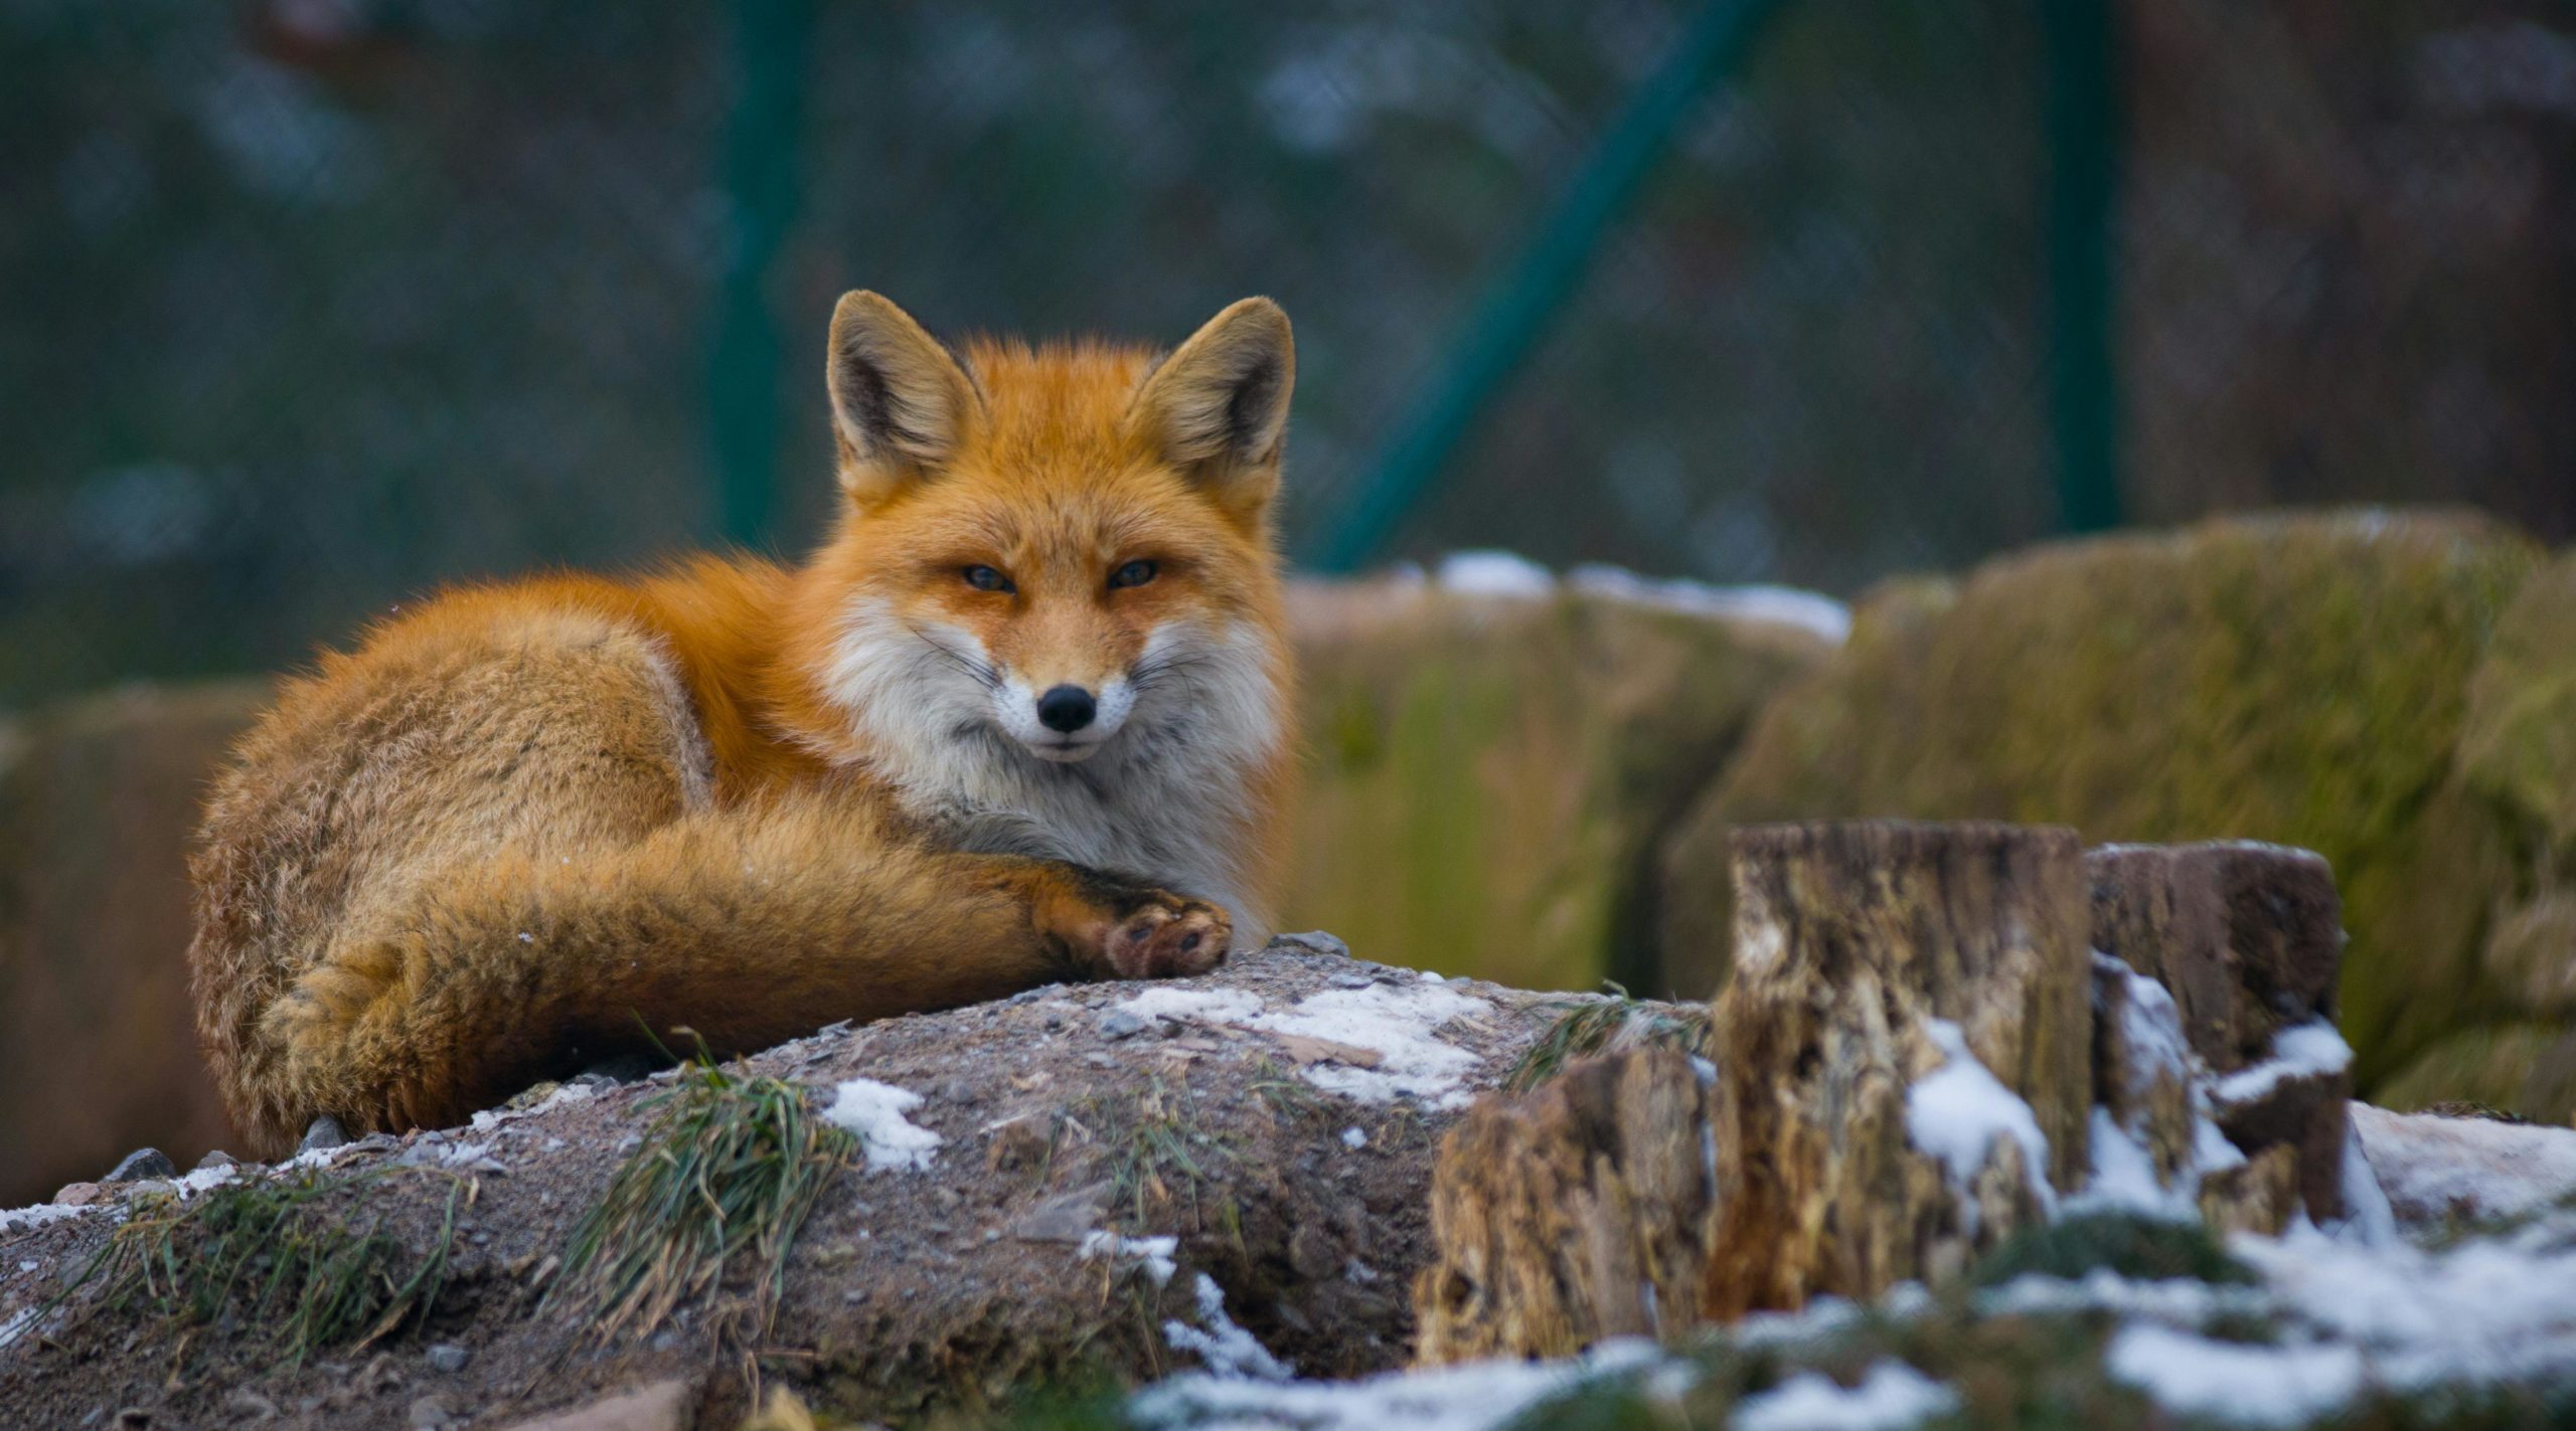
[[[1494,391],[1528,358],[1548,319],[1574,296],[1602,234],[1628,214],[1692,100],[1744,64],[1754,33],[1777,8],[1777,0],[1716,0],[1692,15],[1664,62],[1602,131],[1530,245],[1486,288],[1450,342],[1448,360],[1409,404],[1352,499],[1324,525],[1306,553],[1309,566],[1352,571],[1394,535]]]

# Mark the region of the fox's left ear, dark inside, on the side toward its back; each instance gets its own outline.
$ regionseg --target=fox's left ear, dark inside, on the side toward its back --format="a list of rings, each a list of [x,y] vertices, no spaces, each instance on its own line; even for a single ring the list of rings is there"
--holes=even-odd
[[[940,340],[866,288],[842,293],[832,309],[824,381],[840,484],[863,507],[956,456],[981,402]]]

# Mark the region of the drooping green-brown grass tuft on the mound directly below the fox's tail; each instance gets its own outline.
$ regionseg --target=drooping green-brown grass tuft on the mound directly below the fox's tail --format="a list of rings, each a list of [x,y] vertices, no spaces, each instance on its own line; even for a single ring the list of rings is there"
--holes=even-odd
[[[706,1058],[683,1063],[641,1109],[654,1122],[572,1228],[546,1305],[582,1313],[592,1343],[647,1336],[747,1259],[755,1325],[768,1333],[788,1248],[822,1189],[855,1161],[858,1135],[817,1117],[806,1089],[737,1078]]]

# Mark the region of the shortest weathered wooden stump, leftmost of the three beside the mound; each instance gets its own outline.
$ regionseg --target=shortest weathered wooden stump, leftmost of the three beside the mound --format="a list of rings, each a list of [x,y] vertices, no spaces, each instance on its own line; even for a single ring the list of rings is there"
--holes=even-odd
[[[1569,1356],[1695,1323],[1716,1199],[1710,1107],[1690,1058],[1659,1048],[1479,1099],[1432,1168],[1417,1359]]]

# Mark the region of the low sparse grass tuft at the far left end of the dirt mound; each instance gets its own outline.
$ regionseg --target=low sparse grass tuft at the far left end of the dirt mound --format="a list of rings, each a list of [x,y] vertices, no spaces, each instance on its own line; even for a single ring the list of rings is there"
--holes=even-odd
[[[366,1189],[392,1176],[446,1179],[438,1238],[415,1253],[384,1230]],[[368,1346],[428,1320],[448,1282],[456,1212],[474,1179],[443,1168],[368,1168],[232,1181],[193,1199],[142,1194],[72,1287],[106,1277],[103,1302],[214,1325],[268,1328],[265,1351],[301,1367],[314,1351]],[[70,1289],[64,1289],[70,1292]]]

